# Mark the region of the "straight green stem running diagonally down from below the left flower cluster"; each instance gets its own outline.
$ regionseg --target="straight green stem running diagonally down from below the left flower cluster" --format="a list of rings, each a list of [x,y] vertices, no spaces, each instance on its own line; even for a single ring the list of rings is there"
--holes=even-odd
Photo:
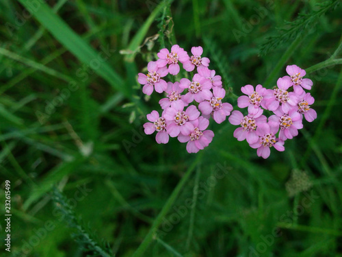
[[[170,208],[172,207],[172,205],[174,204],[174,201],[176,200],[176,197],[181,192],[181,189],[185,185],[185,182],[187,182],[187,180],[189,179],[190,175],[192,174],[192,171],[194,171],[196,164],[201,160],[201,157],[202,157],[202,152],[198,154],[194,162],[192,162],[192,165],[185,172],[183,178],[181,178],[181,181],[177,184],[176,188],[174,188],[174,191],[170,195],[168,201],[166,201],[166,204],[163,206],[163,208],[161,209],[161,212],[159,212],[159,215],[153,222],[153,225],[150,228],[150,231],[148,231],[148,234],[145,236],[144,241],[142,241],[141,245],[137,248],[137,250],[134,252],[132,257],[139,257],[139,256],[142,256],[142,254],[144,254],[144,252],[146,251],[146,248],[148,247],[148,245],[150,245],[151,241],[155,237],[157,229],[159,228],[159,225],[163,221],[163,217],[165,217],[168,214]]]

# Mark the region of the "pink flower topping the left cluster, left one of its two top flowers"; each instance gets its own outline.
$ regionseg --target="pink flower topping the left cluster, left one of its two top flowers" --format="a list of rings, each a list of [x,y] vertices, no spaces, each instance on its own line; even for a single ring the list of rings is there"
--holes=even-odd
[[[168,64],[168,72],[171,75],[177,75],[179,73],[179,64],[178,62],[184,63],[189,60],[189,56],[187,52],[184,51],[183,48],[179,47],[179,45],[172,45],[171,53],[168,49],[163,48],[157,53],[159,60],[157,60],[157,65],[159,68],[166,67]]]

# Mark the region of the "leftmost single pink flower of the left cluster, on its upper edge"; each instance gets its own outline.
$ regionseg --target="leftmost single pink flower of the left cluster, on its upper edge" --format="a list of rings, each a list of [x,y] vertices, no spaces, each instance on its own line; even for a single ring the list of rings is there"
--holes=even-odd
[[[137,77],[137,82],[144,85],[142,92],[146,95],[151,95],[154,87],[158,93],[163,93],[168,84],[161,77],[168,75],[168,69],[166,67],[159,69],[157,62],[148,62],[147,70],[147,75],[139,73]]]

